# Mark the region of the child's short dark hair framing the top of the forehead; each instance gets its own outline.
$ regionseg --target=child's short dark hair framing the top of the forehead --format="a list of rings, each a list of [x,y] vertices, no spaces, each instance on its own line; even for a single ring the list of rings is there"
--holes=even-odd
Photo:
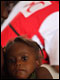
[[[34,49],[35,51],[35,55],[36,55],[36,58],[38,59],[39,55],[38,53],[41,51],[42,53],[42,50],[41,50],[41,47],[33,40],[31,39],[27,39],[27,38],[24,38],[22,36],[18,36],[16,37],[14,40],[10,41],[7,45],[6,45],[6,53],[7,51],[9,50],[9,48],[16,42],[22,42],[24,44],[26,44],[27,46],[30,46]],[[43,54],[43,53],[42,53]]]

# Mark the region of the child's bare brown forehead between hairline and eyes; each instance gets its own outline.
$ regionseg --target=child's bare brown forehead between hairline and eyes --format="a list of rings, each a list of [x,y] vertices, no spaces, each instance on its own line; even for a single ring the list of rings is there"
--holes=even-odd
[[[9,53],[13,55],[20,55],[20,54],[33,54],[34,49],[30,46],[27,46],[25,43],[22,42],[16,42],[14,43],[10,49],[9,49]]]

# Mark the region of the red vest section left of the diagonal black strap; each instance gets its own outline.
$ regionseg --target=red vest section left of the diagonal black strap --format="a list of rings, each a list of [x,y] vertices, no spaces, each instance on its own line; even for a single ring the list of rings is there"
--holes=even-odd
[[[1,33],[2,47],[6,46],[7,42],[15,37],[17,37],[17,35],[12,31],[12,29],[9,26],[7,26]]]

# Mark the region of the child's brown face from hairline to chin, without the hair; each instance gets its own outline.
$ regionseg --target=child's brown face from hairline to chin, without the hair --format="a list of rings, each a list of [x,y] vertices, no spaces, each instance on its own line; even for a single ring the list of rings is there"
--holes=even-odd
[[[14,43],[7,53],[8,72],[15,78],[26,79],[36,68],[33,48],[24,43]]]

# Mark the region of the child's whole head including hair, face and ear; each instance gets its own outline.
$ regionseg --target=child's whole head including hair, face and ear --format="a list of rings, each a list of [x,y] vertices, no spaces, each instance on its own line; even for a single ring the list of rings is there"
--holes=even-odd
[[[40,47],[32,41],[17,37],[6,46],[6,64],[10,76],[26,79],[37,68]]]

